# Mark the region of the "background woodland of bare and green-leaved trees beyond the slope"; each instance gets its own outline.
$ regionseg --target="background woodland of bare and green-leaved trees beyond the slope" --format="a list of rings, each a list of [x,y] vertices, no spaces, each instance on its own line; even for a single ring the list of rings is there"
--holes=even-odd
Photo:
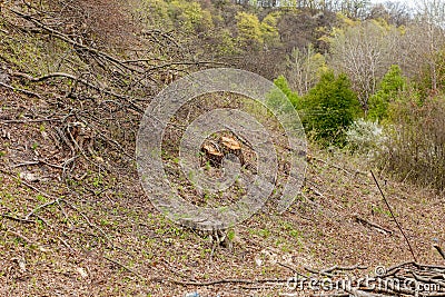
[[[443,1],[144,0],[136,11],[191,59],[275,80],[322,146],[444,189]]]

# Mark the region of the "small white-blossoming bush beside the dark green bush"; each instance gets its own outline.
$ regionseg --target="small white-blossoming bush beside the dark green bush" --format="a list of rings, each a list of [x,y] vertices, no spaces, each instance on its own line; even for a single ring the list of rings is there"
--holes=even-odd
[[[384,143],[383,127],[376,121],[355,120],[346,131],[347,147],[352,152],[375,157]]]

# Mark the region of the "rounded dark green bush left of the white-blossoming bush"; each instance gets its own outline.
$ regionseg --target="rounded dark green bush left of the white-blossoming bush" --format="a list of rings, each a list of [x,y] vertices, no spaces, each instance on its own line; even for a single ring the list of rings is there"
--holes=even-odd
[[[345,75],[324,73],[303,98],[303,125],[323,146],[345,145],[345,130],[358,113],[357,95]]]

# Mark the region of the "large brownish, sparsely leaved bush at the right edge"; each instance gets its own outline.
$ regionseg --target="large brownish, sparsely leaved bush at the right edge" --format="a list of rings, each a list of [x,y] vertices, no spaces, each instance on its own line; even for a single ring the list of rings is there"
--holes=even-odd
[[[445,98],[415,96],[389,107],[386,154],[379,165],[400,180],[445,189]]]

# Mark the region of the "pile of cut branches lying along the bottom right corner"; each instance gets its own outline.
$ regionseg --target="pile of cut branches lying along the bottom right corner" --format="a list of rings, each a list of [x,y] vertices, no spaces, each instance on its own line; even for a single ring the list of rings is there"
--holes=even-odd
[[[281,264],[283,265],[283,264]],[[384,296],[445,296],[445,266],[422,265],[415,261],[403,263],[388,269],[377,267],[374,275],[364,276],[358,270],[365,266],[333,266],[325,269],[305,267],[287,279],[218,279],[206,283],[171,280],[188,287],[207,287],[224,284],[245,290],[278,289],[280,296],[340,296],[340,297],[384,297]]]

